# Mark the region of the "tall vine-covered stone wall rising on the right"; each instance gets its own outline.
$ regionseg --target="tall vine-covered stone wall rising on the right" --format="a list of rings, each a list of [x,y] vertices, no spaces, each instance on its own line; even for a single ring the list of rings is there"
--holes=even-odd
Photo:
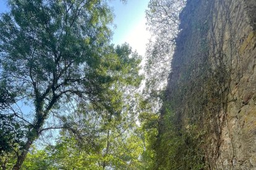
[[[255,11],[255,0],[190,0],[182,11],[158,136],[163,150],[169,131],[184,141],[177,167],[190,155],[198,164],[183,169],[256,169]]]

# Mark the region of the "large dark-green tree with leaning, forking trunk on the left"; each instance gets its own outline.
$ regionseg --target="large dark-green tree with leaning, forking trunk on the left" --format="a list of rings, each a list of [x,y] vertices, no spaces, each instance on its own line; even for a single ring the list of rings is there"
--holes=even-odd
[[[74,130],[66,121],[67,105],[98,105],[120,63],[139,60],[113,58],[108,43],[113,15],[105,1],[10,0],[9,7],[0,18],[1,81],[14,87],[15,101],[30,105],[30,111],[9,106],[25,131],[25,145],[13,167],[20,169],[43,132]],[[123,79],[134,85],[138,64],[126,69]]]

